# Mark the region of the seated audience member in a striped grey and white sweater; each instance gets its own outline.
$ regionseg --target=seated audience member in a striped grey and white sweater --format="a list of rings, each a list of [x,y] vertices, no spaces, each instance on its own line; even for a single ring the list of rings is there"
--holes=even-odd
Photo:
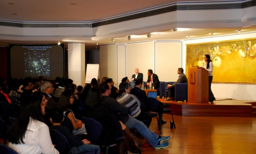
[[[122,105],[126,106],[130,112],[131,116],[139,121],[146,120],[147,127],[150,126],[152,118],[141,112],[141,102],[135,95],[131,95],[130,93],[130,86],[127,82],[121,82],[119,84],[120,95],[117,96],[116,100],[121,103]]]

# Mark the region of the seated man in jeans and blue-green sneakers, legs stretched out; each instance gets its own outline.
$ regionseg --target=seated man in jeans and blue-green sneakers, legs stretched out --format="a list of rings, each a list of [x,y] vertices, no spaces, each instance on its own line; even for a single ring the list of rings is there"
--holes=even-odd
[[[125,106],[109,97],[111,93],[111,86],[109,83],[102,82],[100,84],[100,88],[102,90],[102,104],[108,107],[110,113],[114,114],[117,120],[123,122],[123,124],[128,128],[135,127],[144,138],[148,139],[148,143],[150,143],[155,149],[166,148],[169,145],[168,141],[171,137],[156,135],[156,133],[150,131],[143,122],[129,115]]]

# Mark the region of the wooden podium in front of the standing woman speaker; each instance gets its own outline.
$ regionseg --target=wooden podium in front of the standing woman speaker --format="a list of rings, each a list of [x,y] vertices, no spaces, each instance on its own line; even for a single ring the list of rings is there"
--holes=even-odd
[[[209,102],[209,75],[202,67],[189,67],[188,70],[188,102]]]

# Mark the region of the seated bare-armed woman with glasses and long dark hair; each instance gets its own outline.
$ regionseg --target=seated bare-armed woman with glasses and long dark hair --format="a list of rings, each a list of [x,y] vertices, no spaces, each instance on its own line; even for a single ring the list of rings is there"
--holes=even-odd
[[[72,122],[73,125],[73,135],[78,134],[87,134],[85,129],[85,124],[81,120],[78,120],[75,118],[75,115],[73,114],[71,110],[71,105],[73,104],[74,97],[70,91],[64,91],[60,95],[60,101],[58,104],[58,108],[61,108],[64,111],[64,115],[67,116]]]

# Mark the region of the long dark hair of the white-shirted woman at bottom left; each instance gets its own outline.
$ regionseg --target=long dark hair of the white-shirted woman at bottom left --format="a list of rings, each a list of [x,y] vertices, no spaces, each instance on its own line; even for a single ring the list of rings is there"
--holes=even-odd
[[[41,109],[42,99],[38,96],[28,96],[21,105],[21,115],[8,131],[8,141],[15,144],[25,143],[23,138],[29,124],[29,117],[44,122]]]

